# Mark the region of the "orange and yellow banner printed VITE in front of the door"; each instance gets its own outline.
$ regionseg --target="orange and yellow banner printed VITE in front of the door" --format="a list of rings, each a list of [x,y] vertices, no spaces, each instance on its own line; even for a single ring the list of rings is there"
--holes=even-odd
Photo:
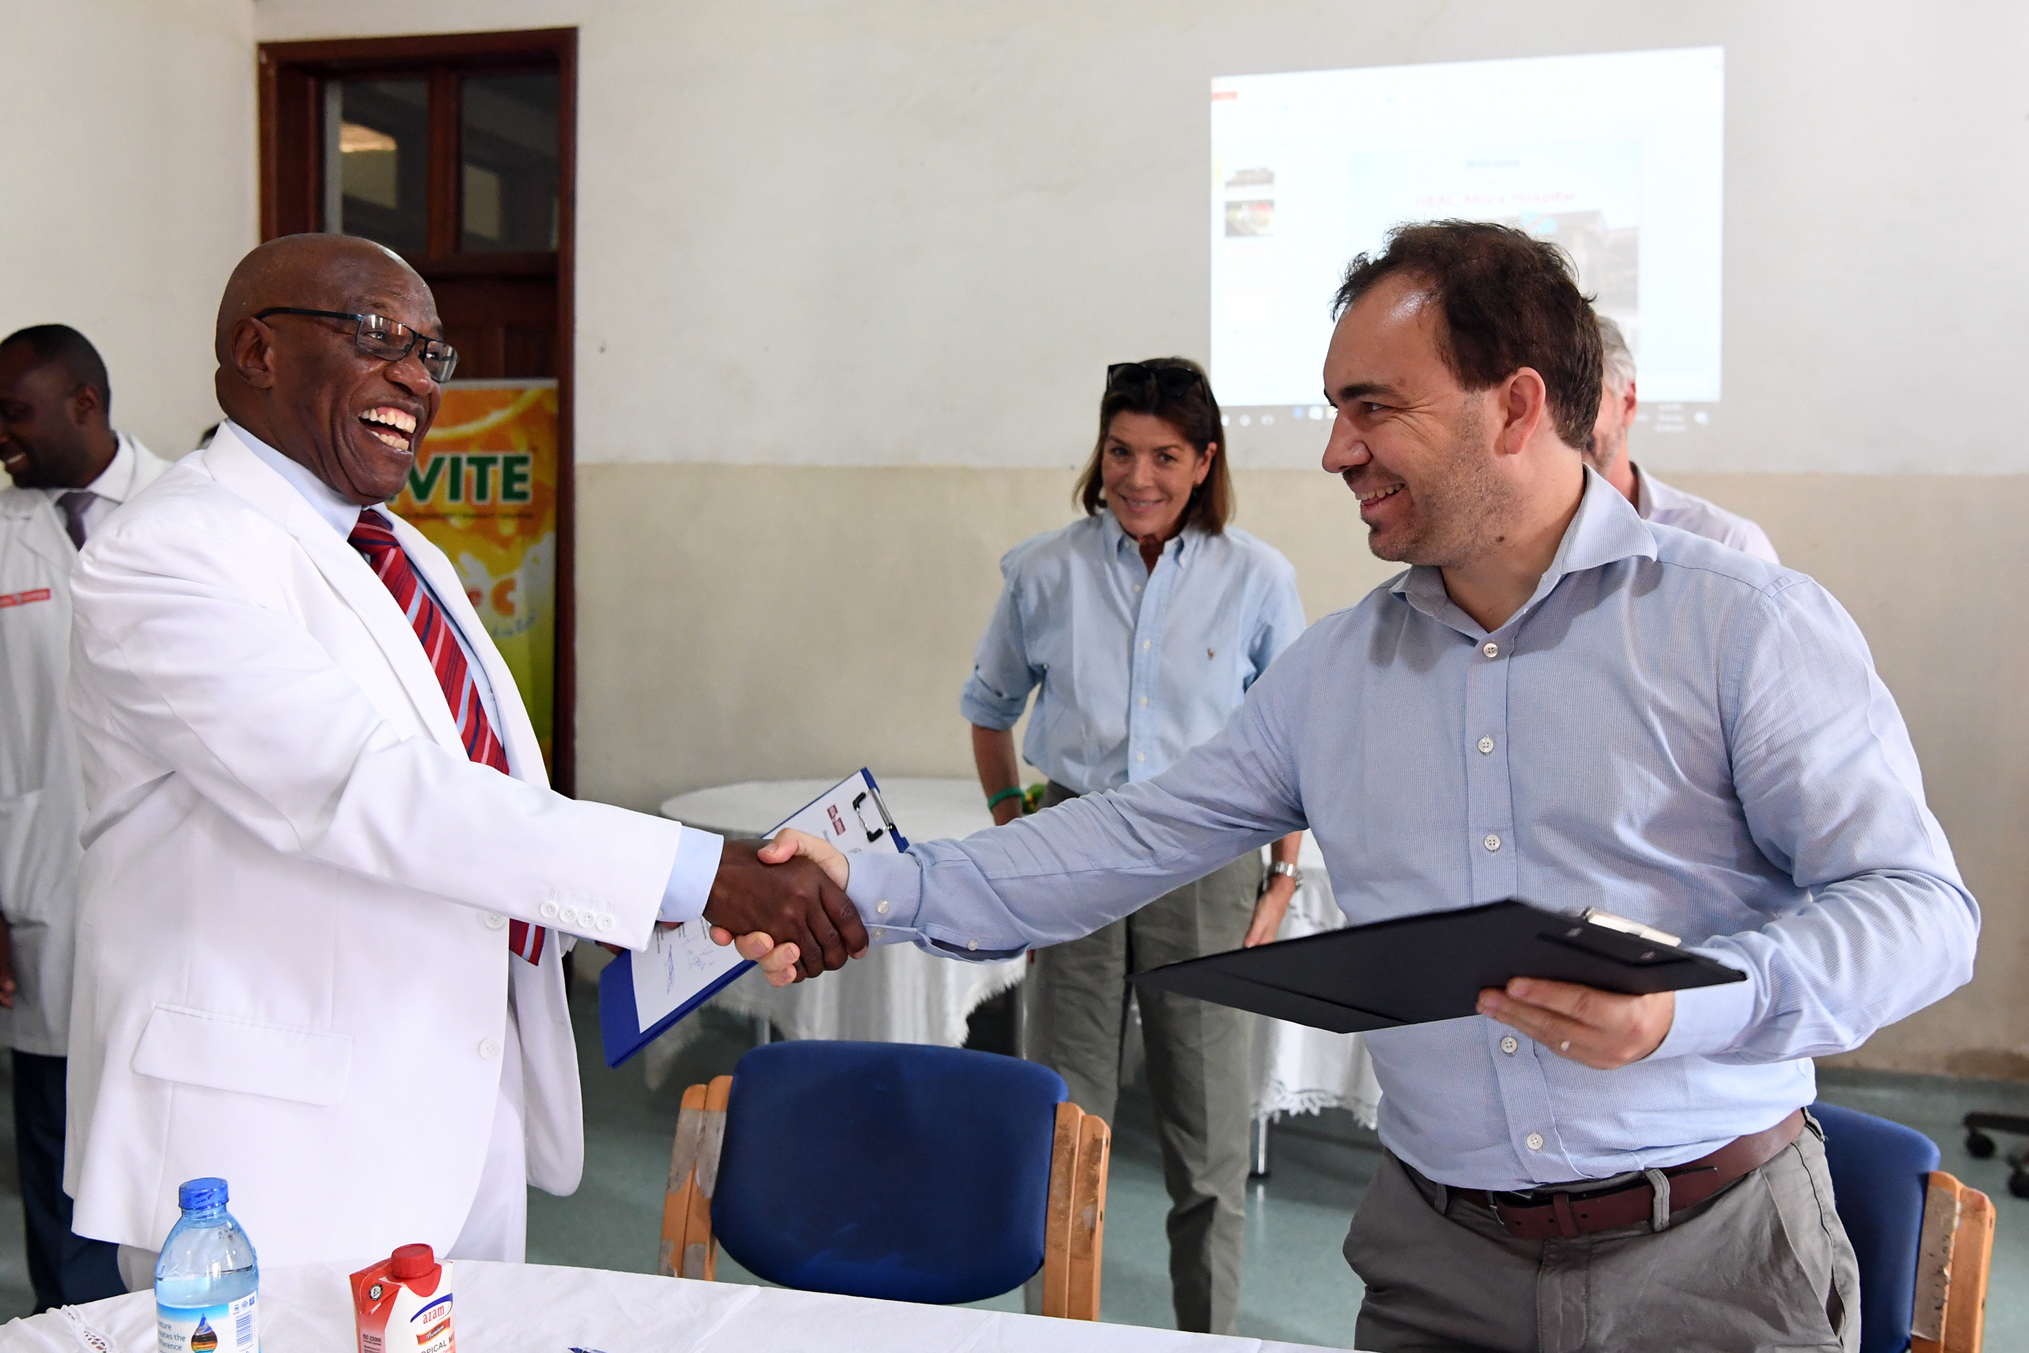
[[[450,556],[550,761],[556,680],[556,381],[444,385],[394,511]]]

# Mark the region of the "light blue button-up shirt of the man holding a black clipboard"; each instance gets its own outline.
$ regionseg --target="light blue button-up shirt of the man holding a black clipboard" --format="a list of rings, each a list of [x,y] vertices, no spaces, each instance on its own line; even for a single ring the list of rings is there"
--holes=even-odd
[[[1508,1051],[1481,1016],[1366,1035],[1382,1140],[1457,1187],[1702,1156],[1810,1103],[1810,1057],[1972,976],[1978,907],[1852,619],[1593,473],[1497,631],[1410,568],[1313,625],[1165,775],[852,856],[848,893],[883,941],[1000,957],[1305,826],[1355,923],[1603,907],[1747,974],[1680,992],[1662,1047],[1617,1071]]]

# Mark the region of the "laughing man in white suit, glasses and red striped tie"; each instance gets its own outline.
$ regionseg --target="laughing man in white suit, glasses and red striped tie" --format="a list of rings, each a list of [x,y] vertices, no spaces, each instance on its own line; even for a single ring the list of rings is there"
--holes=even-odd
[[[270,1266],[519,1260],[526,1185],[574,1191],[584,1154],[550,931],[702,915],[777,982],[866,945],[814,868],[548,789],[454,568],[379,507],[440,333],[379,245],[262,245],[219,306],[227,422],[79,562],[67,1185],[130,1286],[199,1174]]]

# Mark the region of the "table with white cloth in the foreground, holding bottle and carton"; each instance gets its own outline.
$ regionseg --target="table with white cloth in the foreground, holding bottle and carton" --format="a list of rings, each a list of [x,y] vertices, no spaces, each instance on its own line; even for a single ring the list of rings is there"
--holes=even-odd
[[[1303,1353],[1307,1345],[1179,1335],[1134,1325],[913,1306],[734,1282],[461,1260],[457,1345],[465,1353]],[[351,1296],[337,1264],[262,1274],[268,1353],[357,1353]],[[87,1333],[103,1339],[95,1347]],[[154,1353],[154,1294],[130,1292],[0,1327],[0,1353]]]

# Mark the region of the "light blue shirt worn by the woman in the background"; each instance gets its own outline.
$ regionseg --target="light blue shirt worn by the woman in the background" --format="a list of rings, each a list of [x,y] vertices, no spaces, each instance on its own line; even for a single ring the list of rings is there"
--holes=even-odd
[[[1079,793],[1167,771],[1303,633],[1297,570],[1236,527],[1185,527],[1150,572],[1102,511],[1014,546],[1000,574],[958,708],[1012,728],[1037,690],[1023,755]]]

